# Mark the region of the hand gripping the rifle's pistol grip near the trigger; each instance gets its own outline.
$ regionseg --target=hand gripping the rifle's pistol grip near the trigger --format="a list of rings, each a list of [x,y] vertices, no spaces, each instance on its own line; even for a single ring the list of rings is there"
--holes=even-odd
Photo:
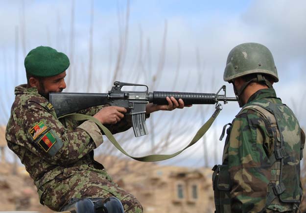
[[[102,124],[115,124],[119,122],[126,113],[126,109],[118,106],[103,107],[94,118],[97,118]]]

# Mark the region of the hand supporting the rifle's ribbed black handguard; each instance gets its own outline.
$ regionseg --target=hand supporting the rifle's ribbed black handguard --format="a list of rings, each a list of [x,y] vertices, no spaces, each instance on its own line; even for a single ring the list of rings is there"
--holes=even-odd
[[[150,114],[155,111],[159,110],[167,110],[172,111],[176,108],[183,109],[184,107],[190,107],[192,105],[186,105],[184,104],[184,101],[180,98],[179,101],[177,101],[174,97],[166,97],[166,100],[168,102],[168,105],[156,105],[149,103],[146,105],[145,111],[147,114]]]

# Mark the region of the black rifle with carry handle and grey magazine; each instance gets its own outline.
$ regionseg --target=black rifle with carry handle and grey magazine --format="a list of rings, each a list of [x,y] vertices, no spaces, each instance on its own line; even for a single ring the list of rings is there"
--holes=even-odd
[[[123,86],[141,86],[145,91],[122,91]],[[220,95],[223,90],[224,94]],[[93,106],[109,104],[126,108],[132,118],[132,126],[136,137],[148,134],[145,124],[145,105],[153,103],[168,104],[166,97],[182,98],[185,105],[189,104],[217,104],[223,101],[236,101],[236,97],[226,97],[226,86],[223,85],[217,93],[180,93],[180,92],[148,92],[148,87],[142,84],[114,82],[108,93],[50,93],[49,101],[53,105],[58,117],[83,110]]]

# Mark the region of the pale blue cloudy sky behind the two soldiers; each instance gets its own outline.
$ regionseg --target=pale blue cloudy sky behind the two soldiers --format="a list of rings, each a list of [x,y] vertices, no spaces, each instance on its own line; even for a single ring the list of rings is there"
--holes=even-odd
[[[25,83],[24,57],[37,46],[54,47],[70,57],[66,92],[106,93],[113,80],[120,80],[146,84],[150,91],[202,93],[215,93],[225,84],[227,94],[233,96],[232,86],[223,81],[223,71],[230,50],[245,42],[271,50],[280,78],[274,85],[277,95],[293,109],[301,125],[306,125],[304,0],[131,0],[128,19],[126,0],[0,0],[0,5],[1,125],[9,118],[14,87]],[[123,50],[120,44],[125,44]],[[115,76],[118,53],[120,69]],[[171,136],[175,145],[166,152],[177,151],[212,112],[213,106],[193,106],[152,115],[156,127],[147,121],[150,135],[131,140],[136,144],[144,141],[136,155],[146,154],[150,141],[165,137],[167,128],[179,134]],[[207,133],[210,164],[221,163],[224,140],[216,138],[238,112],[237,103],[223,106]],[[103,147],[99,149],[103,152]],[[203,142],[165,164],[203,166]]]

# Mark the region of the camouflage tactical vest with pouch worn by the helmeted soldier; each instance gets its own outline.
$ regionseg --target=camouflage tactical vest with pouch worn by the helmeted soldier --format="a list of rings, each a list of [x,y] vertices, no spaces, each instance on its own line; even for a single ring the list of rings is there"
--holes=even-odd
[[[305,134],[293,112],[282,103],[265,99],[244,105],[237,116],[253,110],[265,121],[274,153],[270,156],[271,180],[267,185],[266,209],[263,212],[297,212],[302,198],[300,161]],[[289,115],[289,116],[288,116]],[[226,145],[231,127],[227,129]],[[227,161],[212,169],[216,213],[231,213],[231,179]]]

